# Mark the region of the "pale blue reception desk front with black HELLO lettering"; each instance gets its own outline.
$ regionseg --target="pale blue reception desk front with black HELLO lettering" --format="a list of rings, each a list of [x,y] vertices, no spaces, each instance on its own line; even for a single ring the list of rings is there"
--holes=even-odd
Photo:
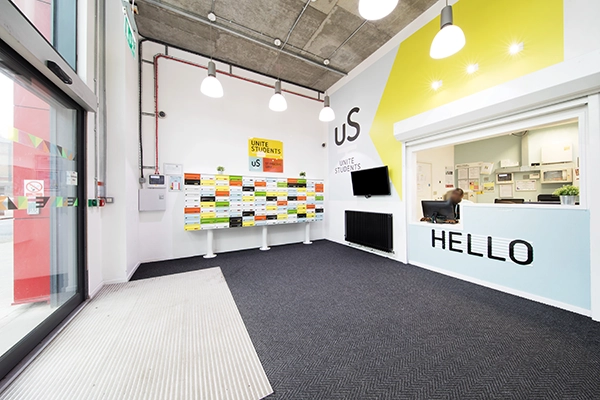
[[[590,216],[579,207],[465,204],[460,224],[408,226],[408,261],[590,315]]]

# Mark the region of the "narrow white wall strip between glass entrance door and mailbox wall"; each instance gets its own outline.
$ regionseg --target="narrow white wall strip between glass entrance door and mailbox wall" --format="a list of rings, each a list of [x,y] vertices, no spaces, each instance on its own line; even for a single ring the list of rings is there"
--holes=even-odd
[[[104,283],[123,282],[139,264],[137,214],[137,56],[127,47],[118,1],[106,1],[107,196],[100,246]],[[88,250],[89,251],[89,250]]]

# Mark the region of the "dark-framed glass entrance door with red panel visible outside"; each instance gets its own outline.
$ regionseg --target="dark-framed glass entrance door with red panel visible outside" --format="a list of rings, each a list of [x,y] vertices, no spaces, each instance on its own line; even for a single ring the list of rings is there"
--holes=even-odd
[[[82,118],[0,42],[0,379],[84,299]]]

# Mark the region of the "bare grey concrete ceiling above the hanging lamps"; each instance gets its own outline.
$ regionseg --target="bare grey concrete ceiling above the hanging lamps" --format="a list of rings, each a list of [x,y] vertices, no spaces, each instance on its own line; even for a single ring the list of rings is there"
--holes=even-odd
[[[323,92],[436,1],[400,0],[365,21],[358,0],[138,0],[136,23],[146,38]]]

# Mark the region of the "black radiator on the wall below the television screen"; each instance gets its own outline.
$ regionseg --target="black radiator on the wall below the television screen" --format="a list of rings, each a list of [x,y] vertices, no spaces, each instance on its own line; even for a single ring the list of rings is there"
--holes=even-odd
[[[348,242],[391,253],[393,245],[392,214],[346,210]]]

